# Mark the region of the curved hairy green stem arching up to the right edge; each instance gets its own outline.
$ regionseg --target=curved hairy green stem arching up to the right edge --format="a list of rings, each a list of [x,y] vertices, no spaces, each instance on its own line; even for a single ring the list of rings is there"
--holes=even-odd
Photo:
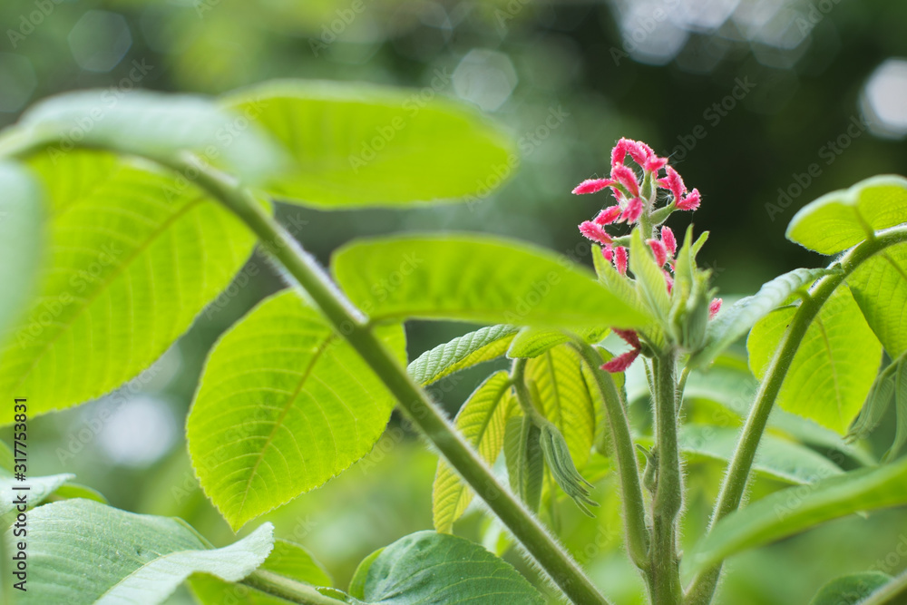
[[[772,357],[766,369],[766,376],[759,385],[756,392],[756,402],[749,415],[746,418],[743,432],[740,434],[740,440],[737,442],[734,456],[727,466],[727,474],[724,483],[721,485],[721,491],[715,503],[715,510],[712,513],[712,520],[709,523],[709,531],[715,524],[727,517],[731,512],[736,511],[746,492],[746,486],[749,483],[749,474],[756,458],[756,450],[759,447],[759,441],[762,434],[765,433],[768,416],[775,405],[775,399],[784,383],[787,370],[794,360],[797,348],[806,334],[806,330],[816,315],[818,315],[825,301],[837,289],[852,272],[867,259],[883,249],[893,246],[894,244],[907,241],[907,227],[896,227],[886,229],[878,237],[867,239],[860,245],[851,249],[839,263],[841,271],[832,275],[826,275],[821,278],[815,285],[813,292],[805,297],[800,307],[787,327],[785,334],[781,337],[781,342],[775,349],[775,355]],[[721,565],[717,565],[711,570],[704,571],[690,583],[687,590],[685,602],[688,605],[707,605],[715,595],[718,579],[721,575]]]

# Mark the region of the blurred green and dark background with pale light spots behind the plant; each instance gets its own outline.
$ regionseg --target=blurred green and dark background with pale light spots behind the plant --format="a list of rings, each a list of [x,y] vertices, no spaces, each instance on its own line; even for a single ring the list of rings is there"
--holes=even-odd
[[[280,205],[278,215],[325,262],[347,239],[431,229],[506,234],[590,264],[576,225],[607,200],[570,190],[607,173],[610,147],[627,136],[670,155],[688,186],[703,193],[695,222],[712,235],[700,259],[724,294],[748,294],[780,272],[824,264],[784,238],[797,209],[874,174],[907,173],[903,2],[15,0],[0,3],[0,24],[0,126],[31,103],[74,89],[218,95],[294,77],[460,99],[519,142],[521,169],[476,203],[342,213]],[[679,232],[689,216],[676,217]],[[149,380],[32,423],[41,443],[31,450],[33,468],[76,473],[115,506],[180,516],[212,542],[231,541],[191,472],[183,424],[214,340],[278,288],[274,270],[250,260]],[[468,329],[410,325],[410,356]],[[453,414],[489,369],[464,373],[434,394]],[[392,427],[398,424],[395,418]],[[366,554],[431,527],[434,465],[414,435],[397,428],[364,461],[268,519],[345,586]],[[689,470],[687,534],[695,536],[723,468]],[[762,493],[779,487],[756,485]],[[620,553],[610,479],[596,497],[595,520],[565,503],[550,521],[610,596],[641,602],[641,584]],[[481,513],[460,530],[493,538]],[[902,571],[904,552],[904,512],[835,522],[737,557],[724,602],[805,603],[844,572]],[[518,555],[508,558],[527,571]],[[190,600],[180,593],[173,602]]]

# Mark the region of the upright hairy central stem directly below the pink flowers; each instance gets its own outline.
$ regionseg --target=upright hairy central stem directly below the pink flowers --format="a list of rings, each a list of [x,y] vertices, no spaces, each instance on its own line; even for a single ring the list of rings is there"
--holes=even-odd
[[[652,503],[651,590],[658,605],[683,601],[677,525],[683,507],[677,416],[677,355],[660,354],[653,360],[658,478]]]

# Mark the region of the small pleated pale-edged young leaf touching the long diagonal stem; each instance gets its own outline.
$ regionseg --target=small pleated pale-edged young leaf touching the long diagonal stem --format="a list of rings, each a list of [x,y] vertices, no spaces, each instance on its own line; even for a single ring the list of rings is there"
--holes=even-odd
[[[467,367],[500,357],[520,330],[513,326],[486,326],[416,357],[406,368],[420,385],[430,385]]]

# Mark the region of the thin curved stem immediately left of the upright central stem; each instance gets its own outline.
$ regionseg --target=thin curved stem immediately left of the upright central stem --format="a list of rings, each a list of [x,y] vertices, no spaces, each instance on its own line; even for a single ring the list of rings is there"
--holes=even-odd
[[[611,437],[614,440],[614,455],[617,458],[620,473],[620,489],[623,493],[623,513],[627,550],[630,559],[640,570],[649,569],[649,528],[646,527],[646,501],[642,495],[639,482],[639,465],[636,449],[630,436],[629,420],[625,405],[614,380],[608,372],[601,369],[601,356],[582,338],[575,338],[571,343],[589,366],[595,376],[601,399],[608,415]]]

